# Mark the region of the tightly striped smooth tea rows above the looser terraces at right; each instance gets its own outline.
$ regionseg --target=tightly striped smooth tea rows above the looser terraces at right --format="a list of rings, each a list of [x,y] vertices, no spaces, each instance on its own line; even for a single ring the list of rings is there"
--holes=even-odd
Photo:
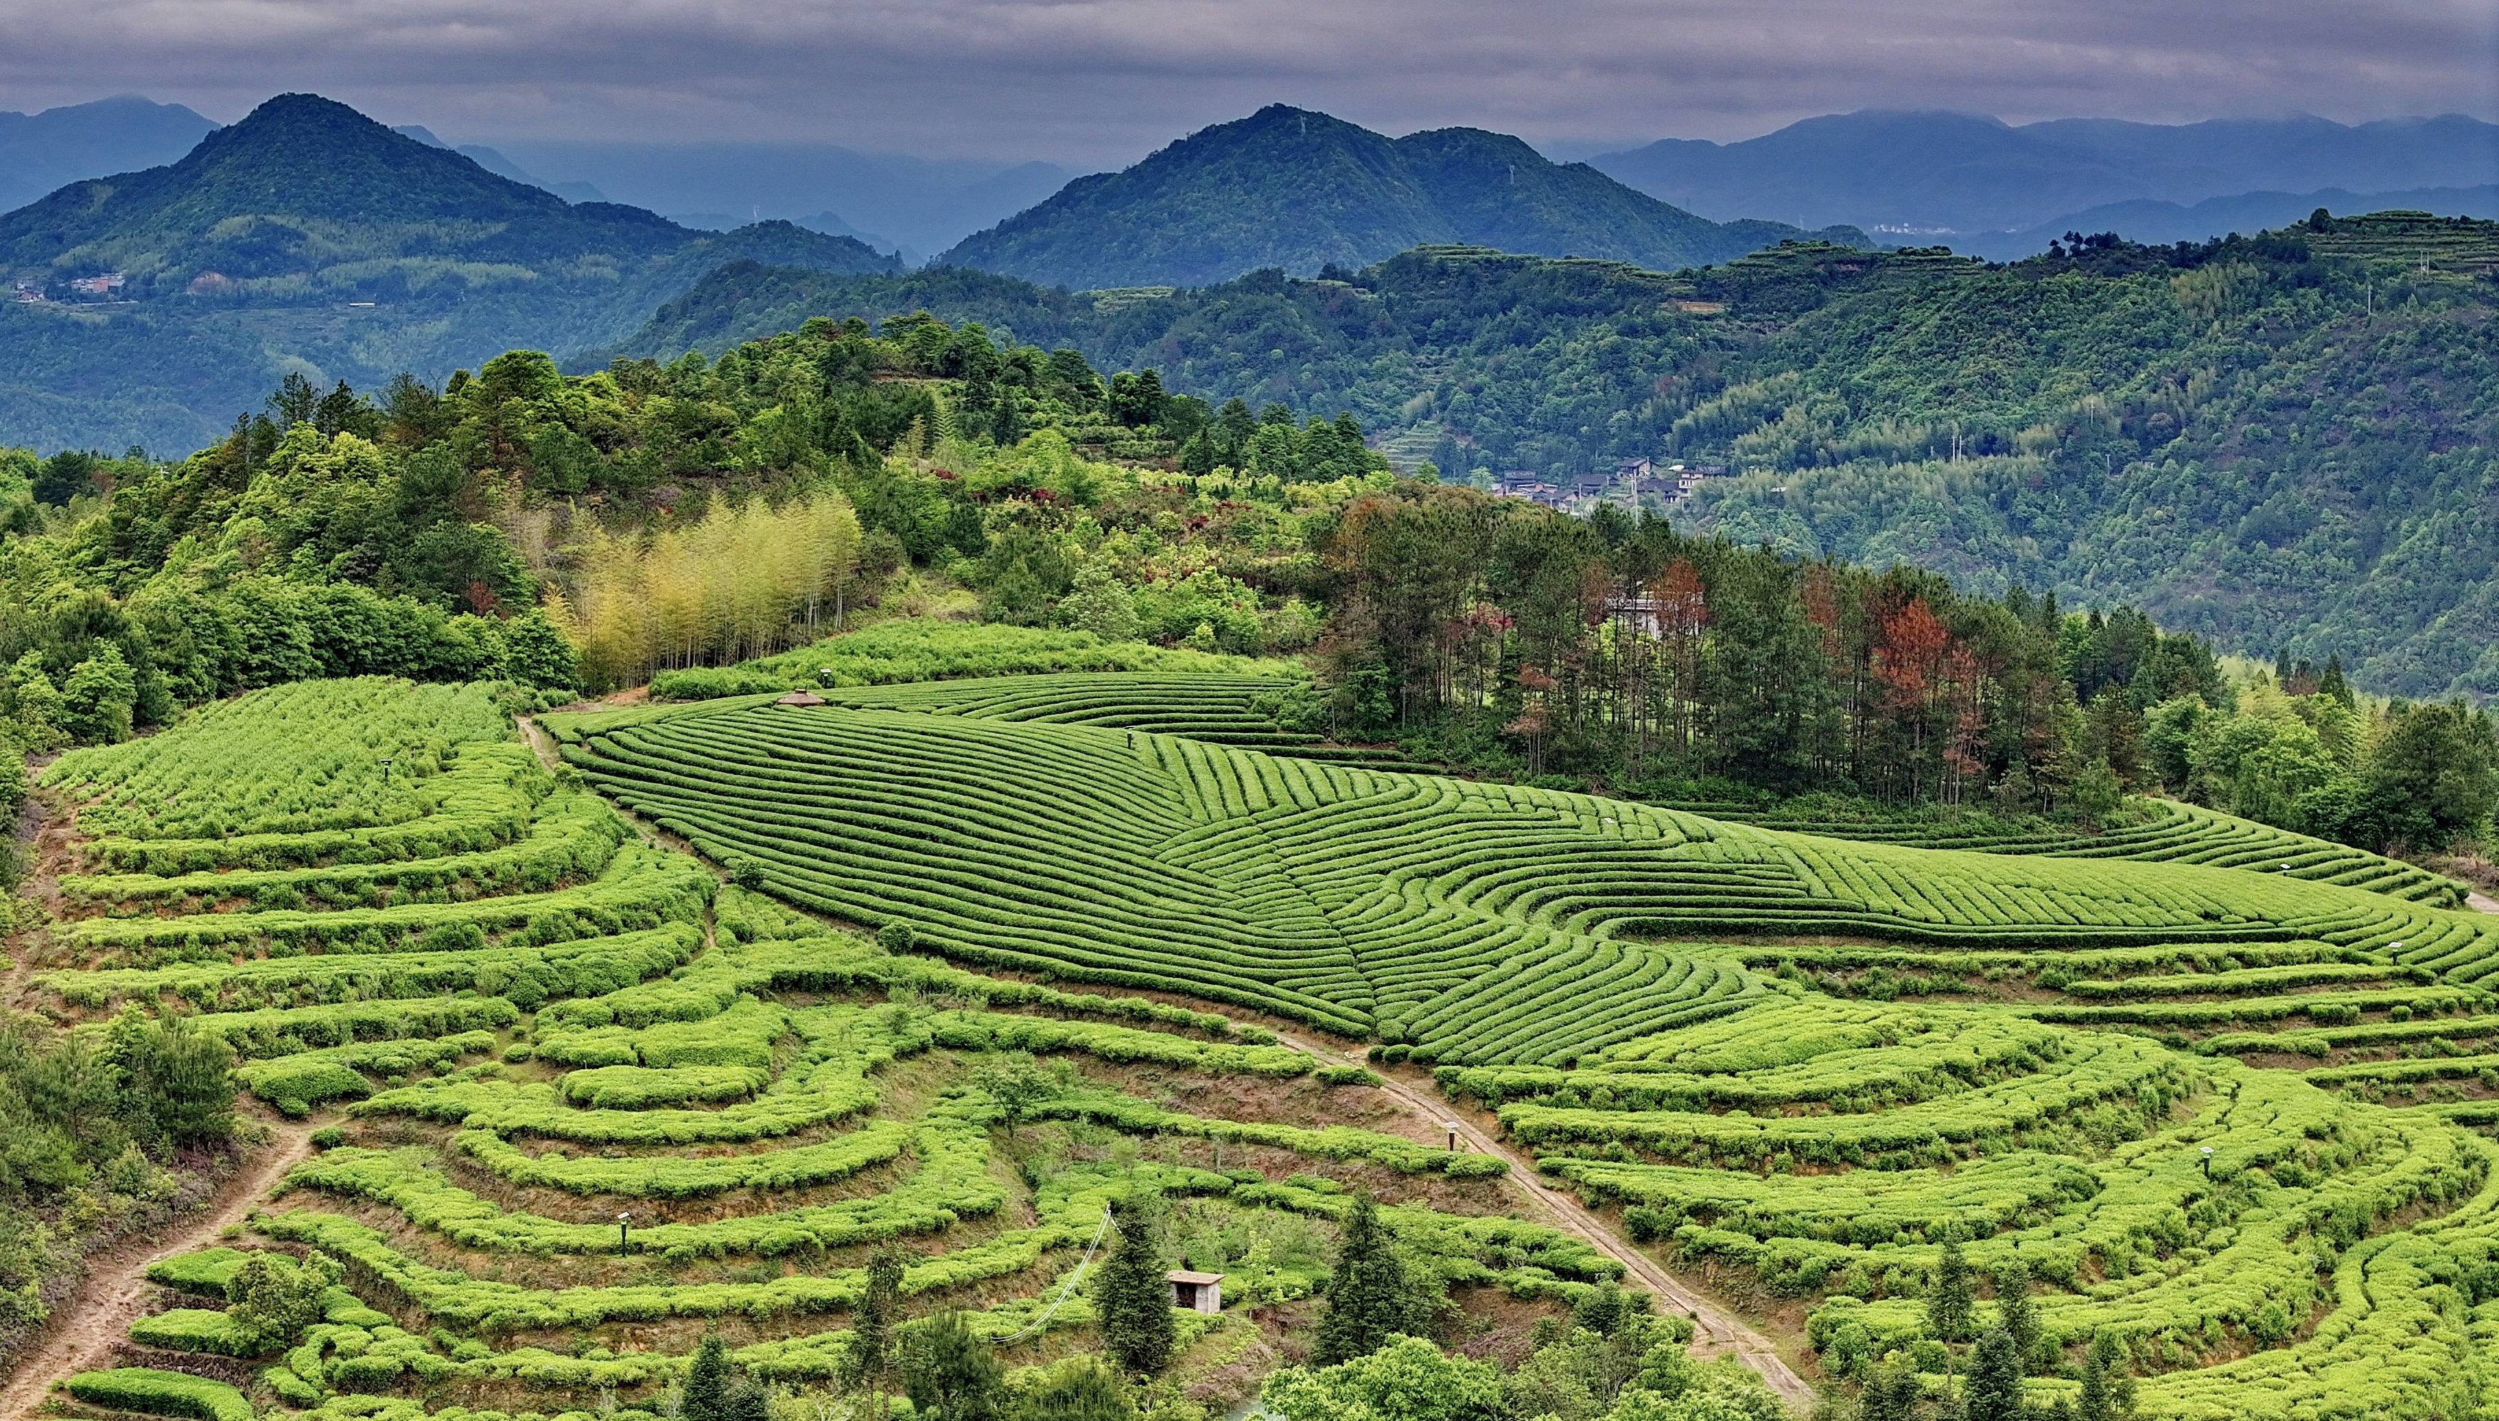
[[[2024,974],[2077,989],[2074,1006],[2037,1011],[2139,1021],[2179,1011],[2104,1004],[2094,981],[2182,961],[2189,944],[2274,966],[2354,961],[2379,979],[2427,966],[2469,981],[2492,966],[2494,929],[2472,914],[2349,894],[2284,877],[2277,864],[2257,877],[2177,862],[1842,844],[1177,734],[932,709],[722,702],[582,732],[567,757],[752,882],[850,922],[910,924],[917,947],[1182,989],[1377,1034],[1419,1059],[1564,1064],[1739,1011],[1764,991],[1739,966],[1747,956],[1814,964],[1849,991],[1879,991],[1884,976],[1907,974],[1927,989],[1962,989],[2024,961],[2024,951],[2069,949],[2074,956],[2024,961]],[[1067,804],[1085,804],[1085,817],[1070,822]],[[2202,824],[2232,829],[2219,817]],[[1187,849],[1150,849],[1160,844]],[[2197,854],[2154,839],[2144,857]],[[2319,877],[2337,877],[2342,859],[2322,862]],[[1537,864],[1572,887],[1537,882]],[[1487,887],[1459,892],[1472,869],[1492,874]],[[2404,884],[2394,874],[2392,887]],[[1897,947],[1679,951],[1634,942],[1712,932],[1849,934]],[[2124,951],[2149,944],[2162,949]],[[1949,986],[1927,981],[1929,971]],[[2267,979],[2237,961],[2232,971],[2257,974],[2254,989],[2199,1001],[2197,1016],[2227,1024],[2469,999],[2437,986],[2304,1001],[2284,991],[2334,989],[2339,974]]]

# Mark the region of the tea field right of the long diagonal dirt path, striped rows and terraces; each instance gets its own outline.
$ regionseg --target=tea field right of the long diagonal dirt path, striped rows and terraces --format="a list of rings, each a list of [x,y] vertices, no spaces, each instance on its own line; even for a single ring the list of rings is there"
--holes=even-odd
[[[787,902],[1437,1066],[1662,1259],[1802,1299],[1837,1376],[1912,1349],[1952,1231],[2039,1279],[2067,1361],[2122,1339],[2154,1414],[2467,1386],[2499,919],[2427,874],[2192,809],[1907,847],[985,714],[1035,692],[555,724]],[[2362,1041],[2457,1099],[2354,1099]]]

